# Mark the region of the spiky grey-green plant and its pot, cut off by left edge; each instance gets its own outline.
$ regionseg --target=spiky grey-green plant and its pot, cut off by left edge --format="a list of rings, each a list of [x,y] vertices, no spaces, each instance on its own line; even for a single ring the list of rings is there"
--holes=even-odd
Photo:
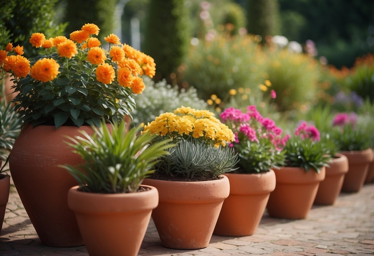
[[[4,221],[6,204],[9,199],[10,178],[5,174],[9,152],[21,131],[22,119],[11,103],[0,102],[0,234]],[[4,163],[4,165],[3,165]]]

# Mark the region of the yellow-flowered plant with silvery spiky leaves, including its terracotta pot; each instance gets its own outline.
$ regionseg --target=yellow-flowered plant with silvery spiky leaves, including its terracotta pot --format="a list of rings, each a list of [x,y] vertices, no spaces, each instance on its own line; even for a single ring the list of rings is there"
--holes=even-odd
[[[159,206],[152,218],[165,247],[201,249],[208,246],[223,200],[229,196],[229,179],[237,162],[225,145],[234,134],[208,110],[191,107],[163,113],[144,127],[143,134],[157,140],[172,138],[177,146],[156,165],[143,184],[159,191]]]

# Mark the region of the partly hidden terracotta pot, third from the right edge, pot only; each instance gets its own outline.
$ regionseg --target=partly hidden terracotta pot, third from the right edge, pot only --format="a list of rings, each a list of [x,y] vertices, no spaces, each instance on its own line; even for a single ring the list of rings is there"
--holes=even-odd
[[[343,186],[344,175],[348,172],[348,158],[343,154],[336,154],[332,158],[330,167],[326,167],[326,177],[319,183],[315,205],[333,205]]]

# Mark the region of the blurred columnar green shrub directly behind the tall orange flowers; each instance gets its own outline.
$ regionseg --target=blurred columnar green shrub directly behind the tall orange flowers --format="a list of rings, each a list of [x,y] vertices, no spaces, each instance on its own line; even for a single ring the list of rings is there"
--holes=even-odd
[[[66,36],[83,25],[93,23],[100,28],[98,39],[103,43],[104,37],[114,31],[114,10],[118,0],[63,0],[66,2],[64,21],[69,22]]]

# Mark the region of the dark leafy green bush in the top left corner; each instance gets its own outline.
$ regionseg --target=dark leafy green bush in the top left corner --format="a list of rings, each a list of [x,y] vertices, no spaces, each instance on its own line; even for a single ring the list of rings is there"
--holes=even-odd
[[[24,56],[36,56],[40,50],[30,43],[31,34],[40,32],[46,38],[61,35],[66,24],[56,25],[55,3],[57,0],[12,0],[1,1],[0,49],[9,42],[24,47]]]

